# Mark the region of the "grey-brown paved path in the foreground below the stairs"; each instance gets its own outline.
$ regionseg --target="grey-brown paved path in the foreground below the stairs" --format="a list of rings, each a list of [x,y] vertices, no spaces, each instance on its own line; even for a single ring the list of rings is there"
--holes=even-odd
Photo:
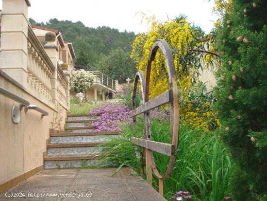
[[[0,201],[166,201],[132,169],[111,177],[115,170],[44,170],[1,194]]]

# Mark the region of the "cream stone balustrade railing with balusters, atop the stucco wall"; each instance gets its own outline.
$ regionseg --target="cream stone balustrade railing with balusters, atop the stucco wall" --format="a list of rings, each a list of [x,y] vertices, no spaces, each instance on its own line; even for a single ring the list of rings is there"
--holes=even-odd
[[[27,82],[30,91],[37,92],[50,105],[58,102],[68,110],[68,79],[58,62],[53,64],[50,60],[30,25],[28,26],[27,72]]]

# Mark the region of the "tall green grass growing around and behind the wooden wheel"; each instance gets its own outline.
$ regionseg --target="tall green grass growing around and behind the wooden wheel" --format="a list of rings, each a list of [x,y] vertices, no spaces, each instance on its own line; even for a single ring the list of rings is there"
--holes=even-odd
[[[169,121],[154,118],[150,121],[153,141],[169,143]],[[122,128],[120,138],[111,137],[100,144],[103,155],[95,167],[122,166],[140,169],[140,159],[136,158],[132,136],[142,138],[143,118],[137,118],[136,130],[132,125]],[[179,149],[170,177],[164,180],[164,197],[171,200],[177,191],[189,191],[192,200],[223,201],[229,194],[228,181],[232,173],[232,164],[227,150],[217,136],[180,126]],[[141,147],[138,147],[141,151]],[[153,152],[159,172],[163,175],[168,166],[169,157]],[[144,177],[144,179],[146,179]],[[153,187],[158,189],[158,180],[153,175]]]

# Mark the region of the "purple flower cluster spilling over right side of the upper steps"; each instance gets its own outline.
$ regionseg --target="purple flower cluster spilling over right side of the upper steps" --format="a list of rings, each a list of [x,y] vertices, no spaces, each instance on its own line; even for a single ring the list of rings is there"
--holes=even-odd
[[[119,123],[132,121],[129,113],[130,110],[127,106],[115,104],[101,106],[89,112],[90,115],[99,116],[97,121],[92,124],[96,127],[96,131],[119,131]]]

